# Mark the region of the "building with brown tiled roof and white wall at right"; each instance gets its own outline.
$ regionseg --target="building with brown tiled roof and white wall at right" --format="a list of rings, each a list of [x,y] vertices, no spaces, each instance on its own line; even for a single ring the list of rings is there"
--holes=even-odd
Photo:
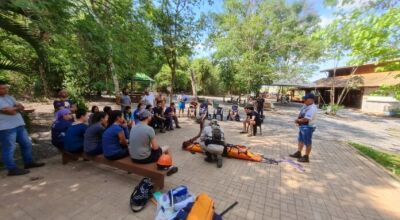
[[[326,69],[328,77],[315,81],[312,89],[319,94],[319,103],[331,102],[332,86],[335,87],[335,100],[345,88],[348,90],[342,104],[346,107],[361,109],[364,112],[382,113],[388,108],[399,108],[400,102],[393,97],[370,96],[380,86],[400,84],[400,70],[379,72],[379,65],[344,66]]]

